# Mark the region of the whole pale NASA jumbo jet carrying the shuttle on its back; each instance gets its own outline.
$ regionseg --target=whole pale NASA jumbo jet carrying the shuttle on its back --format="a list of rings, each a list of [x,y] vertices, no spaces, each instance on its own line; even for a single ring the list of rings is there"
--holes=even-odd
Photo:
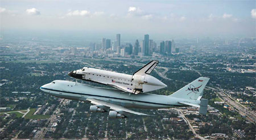
[[[141,93],[129,94],[116,89],[93,87],[77,82],[54,80],[40,89],[52,96],[64,99],[80,100],[92,103],[91,112],[106,112],[110,118],[125,118],[127,114],[148,115],[132,111],[129,108],[160,109],[172,107],[199,107],[199,112],[207,113],[207,99],[201,99],[209,78],[200,77],[187,84],[172,95],[155,95]]]

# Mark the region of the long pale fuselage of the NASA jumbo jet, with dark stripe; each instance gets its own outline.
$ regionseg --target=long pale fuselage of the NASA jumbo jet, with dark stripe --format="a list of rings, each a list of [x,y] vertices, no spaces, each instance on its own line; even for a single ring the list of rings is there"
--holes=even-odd
[[[159,109],[186,106],[179,103],[186,101],[186,99],[145,93],[135,95],[120,90],[93,87],[65,80],[54,80],[40,87],[40,89],[52,96],[64,99],[86,101],[87,98],[93,98],[122,105],[126,108]],[[200,101],[195,100],[195,104],[200,104]]]

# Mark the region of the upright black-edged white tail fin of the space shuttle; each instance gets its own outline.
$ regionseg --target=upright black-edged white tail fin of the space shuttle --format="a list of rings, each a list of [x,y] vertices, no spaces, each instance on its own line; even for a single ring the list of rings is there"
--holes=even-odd
[[[147,65],[143,66],[141,69],[136,71],[133,75],[145,75],[145,74],[150,74],[152,70],[154,70],[155,66],[158,65],[158,61],[153,60]]]

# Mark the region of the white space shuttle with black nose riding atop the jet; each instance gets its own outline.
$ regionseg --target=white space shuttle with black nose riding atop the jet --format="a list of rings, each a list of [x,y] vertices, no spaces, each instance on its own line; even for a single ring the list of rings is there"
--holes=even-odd
[[[157,64],[158,61],[151,61],[133,75],[90,67],[73,70],[68,75],[76,79],[105,84],[106,86],[111,86],[124,92],[139,94],[141,92],[150,92],[167,87],[166,84],[150,75]]]

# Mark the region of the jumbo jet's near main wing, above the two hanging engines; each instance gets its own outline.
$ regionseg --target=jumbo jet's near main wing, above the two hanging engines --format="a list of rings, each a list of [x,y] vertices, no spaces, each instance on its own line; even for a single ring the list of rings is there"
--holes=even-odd
[[[104,100],[93,99],[93,98],[87,98],[86,100],[90,101],[90,103],[92,103],[92,104],[104,105],[104,106],[109,107],[110,109],[113,109],[115,111],[123,111],[123,112],[127,112],[127,113],[149,116],[148,114],[131,111],[130,109],[124,108],[121,105],[112,104],[112,103],[109,103],[109,102],[104,101]]]

